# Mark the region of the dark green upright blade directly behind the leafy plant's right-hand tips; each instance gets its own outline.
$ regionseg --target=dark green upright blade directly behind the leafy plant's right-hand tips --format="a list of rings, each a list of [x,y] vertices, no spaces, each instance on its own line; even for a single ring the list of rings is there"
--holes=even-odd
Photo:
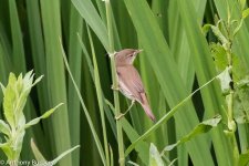
[[[45,51],[44,51],[44,41],[42,37],[42,24],[41,24],[41,13],[39,1],[27,1],[27,15],[28,15],[28,25],[29,25],[29,37],[31,44],[31,56],[33,60],[33,66],[37,75],[42,75],[46,73],[46,63],[45,63]],[[41,111],[38,114],[43,114],[44,111],[49,107],[49,100],[46,97],[46,77],[43,79],[37,86],[38,91],[38,101],[39,110]],[[35,110],[34,105],[31,105],[31,110]],[[34,113],[34,112],[31,112]],[[37,117],[33,116],[33,117]],[[42,129],[43,127],[43,129]],[[48,121],[44,121],[34,126],[34,137],[38,145],[50,145],[49,141],[49,131],[50,125]],[[40,146],[41,152],[44,156],[51,156],[51,148],[46,146]]]

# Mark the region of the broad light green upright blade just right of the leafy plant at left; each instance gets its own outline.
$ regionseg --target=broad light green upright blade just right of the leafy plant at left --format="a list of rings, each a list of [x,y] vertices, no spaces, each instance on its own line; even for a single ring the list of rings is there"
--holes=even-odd
[[[63,58],[59,38],[61,37],[61,11],[60,1],[43,0],[40,1],[42,28],[45,46],[46,63],[46,89],[49,105],[58,103],[66,103],[66,84]],[[61,111],[55,113],[49,120],[50,139],[52,141],[53,154],[61,154],[71,147],[69,112],[66,106],[62,106]],[[60,165],[72,165],[72,156],[69,154],[60,160]]]

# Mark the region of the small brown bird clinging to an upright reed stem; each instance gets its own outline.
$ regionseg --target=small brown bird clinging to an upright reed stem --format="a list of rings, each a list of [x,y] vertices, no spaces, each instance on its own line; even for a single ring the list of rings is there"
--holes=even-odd
[[[147,116],[155,121],[151,106],[147,101],[144,85],[137,70],[133,66],[133,61],[142,50],[125,49],[115,54],[116,72],[118,77],[118,90],[129,100],[132,105],[138,102]],[[129,106],[129,108],[132,107]],[[128,108],[128,110],[129,110]]]

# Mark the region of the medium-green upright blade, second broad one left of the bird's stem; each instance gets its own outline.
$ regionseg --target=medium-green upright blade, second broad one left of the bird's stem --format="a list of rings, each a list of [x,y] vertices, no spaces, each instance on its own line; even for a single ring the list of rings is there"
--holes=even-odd
[[[82,37],[83,20],[73,4],[70,8],[69,65],[77,86],[81,87],[82,50],[77,41],[77,34]],[[80,101],[70,77],[68,79],[68,107],[72,110],[69,114],[71,142],[72,145],[79,145],[81,137]],[[80,149],[75,149],[72,160],[73,165],[80,165]]]

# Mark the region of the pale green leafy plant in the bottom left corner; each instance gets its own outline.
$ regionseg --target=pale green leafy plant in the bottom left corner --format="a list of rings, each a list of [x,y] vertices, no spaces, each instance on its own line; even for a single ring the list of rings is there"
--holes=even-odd
[[[43,76],[40,76],[34,81],[33,77],[34,74],[32,71],[28,72],[24,76],[20,74],[18,77],[15,77],[13,73],[10,73],[8,85],[3,86],[0,83],[3,93],[3,113],[6,117],[6,122],[0,120],[0,133],[4,134],[4,141],[0,143],[0,148],[8,157],[8,163],[10,165],[18,165],[20,162],[19,157],[22,149],[25,129],[38,124],[42,118],[48,118],[59,106],[62,105],[61,103],[50,111],[46,111],[40,117],[33,118],[27,123],[23,108],[27,103],[28,95],[30,94],[31,89],[40,82]],[[64,155],[68,153],[64,153]],[[54,159],[51,165],[58,163],[58,160],[60,160],[64,155]],[[41,162],[39,158],[37,159],[38,163]],[[43,162],[46,160],[43,159]]]

